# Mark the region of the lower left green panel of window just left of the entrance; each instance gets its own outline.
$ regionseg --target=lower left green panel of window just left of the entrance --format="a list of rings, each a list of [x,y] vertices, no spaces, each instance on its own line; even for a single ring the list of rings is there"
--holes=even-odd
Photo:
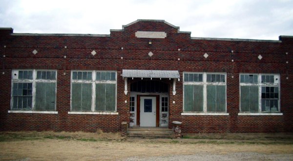
[[[91,111],[92,84],[72,83],[72,111]]]

